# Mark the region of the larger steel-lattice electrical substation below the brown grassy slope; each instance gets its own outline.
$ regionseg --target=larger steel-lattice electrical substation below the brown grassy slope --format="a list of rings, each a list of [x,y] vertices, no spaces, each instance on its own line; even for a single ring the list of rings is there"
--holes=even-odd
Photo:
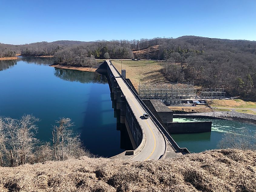
[[[196,96],[192,83],[139,84],[138,92],[141,99],[158,99],[167,105],[181,104],[181,100]]]

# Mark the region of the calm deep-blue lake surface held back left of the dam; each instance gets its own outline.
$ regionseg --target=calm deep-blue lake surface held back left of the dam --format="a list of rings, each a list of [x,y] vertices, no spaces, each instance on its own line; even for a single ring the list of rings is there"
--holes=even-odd
[[[19,58],[0,62],[0,116],[40,118],[36,137],[50,141],[52,124],[60,117],[75,122],[85,147],[93,154],[111,157],[120,148],[125,133],[117,131],[117,119],[104,75],[48,66],[50,58]]]

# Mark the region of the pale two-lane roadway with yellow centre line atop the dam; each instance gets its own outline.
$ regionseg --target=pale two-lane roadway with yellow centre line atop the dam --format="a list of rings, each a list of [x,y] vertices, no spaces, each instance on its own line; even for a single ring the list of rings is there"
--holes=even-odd
[[[161,133],[151,118],[141,118],[141,116],[146,113],[144,108],[142,108],[140,102],[132,93],[131,89],[125,83],[123,78],[121,78],[115,67],[111,64],[110,60],[106,60],[106,62],[111,72],[115,76],[115,79],[121,88],[121,91],[125,95],[126,100],[131,107],[131,110],[133,111],[136,119],[138,120],[138,123],[140,124],[143,132],[143,141],[138,147],[139,149],[136,149],[137,152],[131,157],[131,159],[133,161],[146,161],[148,159],[157,160],[161,158],[165,154],[168,145],[165,140],[165,136]],[[174,150],[173,153],[175,153]]]

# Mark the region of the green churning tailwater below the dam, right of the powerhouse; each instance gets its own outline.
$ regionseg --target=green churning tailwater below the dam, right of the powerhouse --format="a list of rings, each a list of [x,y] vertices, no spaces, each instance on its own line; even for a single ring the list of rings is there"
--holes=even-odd
[[[220,141],[227,133],[232,132],[241,134],[242,131],[245,131],[248,137],[251,137],[253,140],[255,139],[256,134],[256,125],[241,123],[239,121],[203,118],[173,118],[173,122],[175,121],[212,121],[211,132],[171,135],[180,147],[187,147],[191,152],[201,152],[218,148]]]

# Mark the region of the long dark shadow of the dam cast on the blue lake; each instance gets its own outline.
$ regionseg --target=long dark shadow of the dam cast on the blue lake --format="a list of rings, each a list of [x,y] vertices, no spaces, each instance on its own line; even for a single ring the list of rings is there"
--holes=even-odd
[[[95,73],[93,73],[95,74]],[[107,83],[107,78],[103,74],[97,74],[100,76],[99,78],[91,78],[94,80],[94,82],[98,82],[99,79],[100,82]],[[93,87],[91,87],[93,89]],[[125,127],[125,124],[120,123],[120,110],[116,109],[116,101],[112,100],[112,108],[107,108],[104,103],[107,103],[109,101],[109,98],[111,98],[111,94],[108,94],[108,100],[106,100],[106,95],[101,94],[101,92],[98,92],[98,94],[90,94],[89,95],[89,101],[87,105],[87,109],[95,108],[98,109],[98,111],[91,112],[90,110],[85,110],[85,118],[84,118],[84,127],[81,127],[81,138],[83,141],[87,144],[87,147],[92,149],[91,152],[94,154],[101,154],[103,157],[111,157],[114,155],[117,155],[125,150],[132,150],[132,144],[127,132],[127,129]],[[101,101],[101,102],[100,102]],[[101,115],[100,115],[101,114]],[[115,121],[111,121],[111,119],[115,118]],[[88,137],[88,131],[86,131],[85,127],[88,126],[88,124],[92,124],[93,126],[91,129],[97,130],[98,134],[96,138]],[[116,126],[116,130],[120,131],[120,145],[115,146],[117,141],[117,138],[109,138],[109,132],[111,132],[112,127]],[[87,142],[88,140],[91,140],[91,142]],[[100,142],[98,142],[100,141]],[[88,146],[93,144],[94,146]],[[112,147],[111,147],[112,146]],[[113,146],[119,148],[119,150],[114,150]]]

